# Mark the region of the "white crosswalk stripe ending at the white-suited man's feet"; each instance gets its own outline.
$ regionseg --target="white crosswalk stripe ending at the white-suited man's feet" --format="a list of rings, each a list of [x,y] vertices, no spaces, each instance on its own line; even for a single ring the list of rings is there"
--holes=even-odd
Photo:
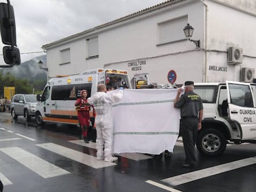
[[[83,152],[75,151],[74,149],[69,149],[64,146],[60,146],[60,145],[54,144],[54,143],[36,144],[36,146],[38,146],[40,148],[47,149],[48,151],[55,152],[57,154],[60,154],[61,156],[64,156],[64,157],[67,157],[74,161],[88,165],[95,169],[116,165],[113,162],[98,161],[98,160],[96,160],[96,157],[94,157],[94,156],[90,156]]]

